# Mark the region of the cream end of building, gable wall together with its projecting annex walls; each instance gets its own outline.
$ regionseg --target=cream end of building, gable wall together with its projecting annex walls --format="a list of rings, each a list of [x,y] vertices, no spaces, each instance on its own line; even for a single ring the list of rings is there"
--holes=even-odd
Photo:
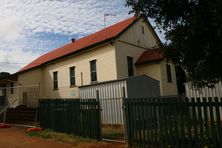
[[[142,33],[142,26],[145,30],[144,34]],[[153,34],[152,28],[150,28],[143,19],[140,19],[121,35],[115,43],[117,78],[121,79],[128,77],[127,56],[133,57],[134,63],[136,63],[137,59],[144,51],[155,47],[158,47],[158,41]],[[151,78],[159,80],[162,96],[177,95],[175,68],[173,64],[170,65],[172,83],[167,82],[166,62],[164,61],[136,65],[134,67],[134,74],[146,74]]]

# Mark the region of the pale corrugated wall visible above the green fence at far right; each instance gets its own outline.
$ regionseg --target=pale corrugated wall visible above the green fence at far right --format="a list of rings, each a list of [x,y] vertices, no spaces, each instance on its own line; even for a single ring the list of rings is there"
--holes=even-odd
[[[215,87],[203,87],[195,88],[191,85],[190,82],[185,83],[185,93],[188,98],[208,98],[208,97],[222,97],[222,82],[219,82]]]

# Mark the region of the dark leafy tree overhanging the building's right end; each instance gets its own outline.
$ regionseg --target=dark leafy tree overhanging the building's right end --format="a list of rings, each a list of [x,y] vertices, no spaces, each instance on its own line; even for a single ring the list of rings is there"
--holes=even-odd
[[[167,57],[196,86],[222,79],[222,0],[127,0],[165,31]]]

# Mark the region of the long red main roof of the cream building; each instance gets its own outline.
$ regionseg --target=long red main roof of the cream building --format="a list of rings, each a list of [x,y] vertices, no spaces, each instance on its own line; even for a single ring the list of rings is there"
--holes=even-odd
[[[94,34],[76,40],[74,43],[69,43],[63,47],[55,49],[47,54],[44,54],[34,60],[32,63],[28,64],[27,66],[23,67],[19,70],[18,73],[38,67],[44,63],[53,61],[55,59],[64,57],[66,55],[75,53],[77,51],[81,51],[81,49],[85,49],[87,47],[105,42],[109,39],[112,39],[118,36],[121,32],[123,32],[129,25],[137,20],[137,17],[131,17],[127,20],[114,24],[110,27],[102,29]]]

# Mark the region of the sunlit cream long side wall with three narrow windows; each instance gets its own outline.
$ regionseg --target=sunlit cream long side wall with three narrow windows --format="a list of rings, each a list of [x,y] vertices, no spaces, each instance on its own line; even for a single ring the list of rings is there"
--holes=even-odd
[[[79,55],[46,65],[44,68],[44,97],[78,97],[78,88],[70,88],[69,67],[75,66],[76,86],[91,84],[90,61],[96,60],[97,81],[117,79],[115,49],[108,44]],[[58,71],[58,90],[53,90],[53,72]],[[81,84],[81,73],[82,82]]]

